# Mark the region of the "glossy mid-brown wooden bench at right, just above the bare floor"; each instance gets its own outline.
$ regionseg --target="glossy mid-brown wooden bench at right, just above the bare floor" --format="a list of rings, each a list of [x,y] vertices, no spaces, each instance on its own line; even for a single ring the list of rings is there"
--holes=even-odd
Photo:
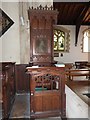
[[[73,77],[86,76],[90,79],[90,69],[70,69],[66,71],[67,79],[73,80]]]

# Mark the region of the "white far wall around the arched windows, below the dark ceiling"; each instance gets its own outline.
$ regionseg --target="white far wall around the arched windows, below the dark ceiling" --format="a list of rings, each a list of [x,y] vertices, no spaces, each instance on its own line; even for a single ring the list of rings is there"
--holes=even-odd
[[[85,30],[88,26],[81,26],[78,36],[78,43],[75,46],[75,26],[64,25],[66,29],[70,30],[70,50],[69,53],[63,53],[63,57],[55,57],[54,60],[64,63],[75,63],[75,61],[87,61],[88,53],[83,53],[81,49],[81,43],[83,34],[82,31]]]

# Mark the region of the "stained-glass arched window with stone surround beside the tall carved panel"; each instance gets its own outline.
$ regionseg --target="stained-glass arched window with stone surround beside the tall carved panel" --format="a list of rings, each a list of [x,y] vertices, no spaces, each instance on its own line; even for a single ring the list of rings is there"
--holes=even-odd
[[[54,53],[69,52],[70,31],[61,26],[54,26]]]

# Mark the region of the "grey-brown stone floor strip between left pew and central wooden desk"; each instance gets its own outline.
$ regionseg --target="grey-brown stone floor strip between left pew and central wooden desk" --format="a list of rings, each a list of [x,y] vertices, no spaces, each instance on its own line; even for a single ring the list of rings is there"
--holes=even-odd
[[[30,118],[30,95],[16,95],[10,118]]]

